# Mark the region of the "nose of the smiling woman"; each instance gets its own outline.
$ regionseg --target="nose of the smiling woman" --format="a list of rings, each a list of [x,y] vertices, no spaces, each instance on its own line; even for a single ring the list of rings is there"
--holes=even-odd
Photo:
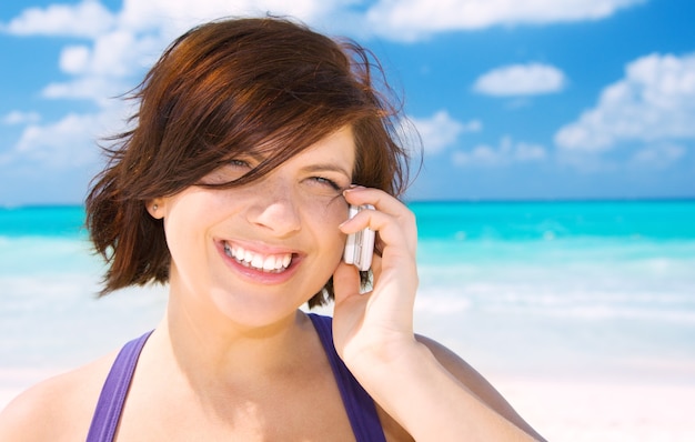
[[[283,238],[301,229],[301,217],[290,185],[278,180],[264,180],[252,195],[246,219],[252,224]]]

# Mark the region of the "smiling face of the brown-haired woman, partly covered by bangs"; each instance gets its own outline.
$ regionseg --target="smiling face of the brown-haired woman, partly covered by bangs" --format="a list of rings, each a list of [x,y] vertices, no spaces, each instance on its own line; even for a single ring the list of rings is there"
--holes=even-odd
[[[236,158],[203,182],[232,181],[262,160]],[[348,215],[342,191],[354,162],[345,127],[249,184],[191,187],[158,200],[172,301],[248,325],[293,313],[340,262],[345,238],[338,225]]]

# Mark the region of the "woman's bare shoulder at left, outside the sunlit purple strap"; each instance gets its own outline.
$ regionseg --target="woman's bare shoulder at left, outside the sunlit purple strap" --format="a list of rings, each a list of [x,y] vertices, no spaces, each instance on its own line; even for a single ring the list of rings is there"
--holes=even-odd
[[[42,381],[0,412],[1,441],[84,440],[115,353]]]

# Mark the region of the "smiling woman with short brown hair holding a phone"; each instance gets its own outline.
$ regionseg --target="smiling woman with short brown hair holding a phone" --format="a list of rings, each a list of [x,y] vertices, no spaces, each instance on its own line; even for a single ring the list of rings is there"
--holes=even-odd
[[[173,42],[87,200],[103,294],[168,283],[165,317],[20,395],[0,440],[542,439],[413,333],[406,155],[370,60],[273,18]],[[373,209],[346,220],[349,204]],[[365,228],[369,273],[341,262]],[[299,310],[331,299],[334,320]]]

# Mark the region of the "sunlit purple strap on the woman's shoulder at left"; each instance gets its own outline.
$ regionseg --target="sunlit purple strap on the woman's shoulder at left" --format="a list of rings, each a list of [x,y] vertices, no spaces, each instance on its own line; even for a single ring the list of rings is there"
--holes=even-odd
[[[121,419],[138,358],[152,331],[128,342],[115,358],[101,389],[87,442],[112,442]]]

